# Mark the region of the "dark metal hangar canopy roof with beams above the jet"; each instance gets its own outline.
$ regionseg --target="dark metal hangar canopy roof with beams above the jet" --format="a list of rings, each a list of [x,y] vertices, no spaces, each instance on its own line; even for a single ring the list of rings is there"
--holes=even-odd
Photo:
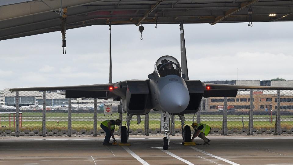
[[[1,0],[0,40],[109,24],[179,24],[292,21],[292,0]],[[60,8],[60,9],[59,9]],[[269,16],[270,13],[277,14]]]

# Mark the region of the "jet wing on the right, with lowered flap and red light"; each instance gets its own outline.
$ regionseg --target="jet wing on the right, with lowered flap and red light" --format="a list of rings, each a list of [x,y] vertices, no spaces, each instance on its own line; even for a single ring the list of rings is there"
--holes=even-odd
[[[246,86],[205,83],[203,97],[236,97],[239,89],[243,90],[293,90],[293,87],[279,86]]]

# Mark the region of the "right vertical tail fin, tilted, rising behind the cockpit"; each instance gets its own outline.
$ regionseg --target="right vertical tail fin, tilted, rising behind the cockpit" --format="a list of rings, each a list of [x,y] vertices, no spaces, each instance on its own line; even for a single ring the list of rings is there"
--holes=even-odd
[[[184,30],[183,23],[180,23],[180,47],[181,47],[181,70],[182,74],[185,75],[184,80],[188,80],[188,69],[187,69],[187,60],[186,60],[186,50],[185,50],[185,39],[184,39]]]

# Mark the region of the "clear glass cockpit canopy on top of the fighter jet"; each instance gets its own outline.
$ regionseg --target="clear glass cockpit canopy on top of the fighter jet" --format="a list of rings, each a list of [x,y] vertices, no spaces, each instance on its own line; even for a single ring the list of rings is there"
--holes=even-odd
[[[176,58],[172,56],[162,56],[155,64],[155,72],[159,77],[165,77],[166,75],[178,75],[181,77],[181,68]]]

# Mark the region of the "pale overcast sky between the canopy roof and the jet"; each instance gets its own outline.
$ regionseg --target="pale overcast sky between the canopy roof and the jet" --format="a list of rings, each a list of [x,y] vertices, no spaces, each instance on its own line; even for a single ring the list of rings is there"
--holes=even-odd
[[[292,22],[184,24],[189,79],[293,80]],[[179,24],[112,25],[113,82],[147,79],[156,60],[180,61]],[[109,26],[0,41],[0,90],[109,83]]]

